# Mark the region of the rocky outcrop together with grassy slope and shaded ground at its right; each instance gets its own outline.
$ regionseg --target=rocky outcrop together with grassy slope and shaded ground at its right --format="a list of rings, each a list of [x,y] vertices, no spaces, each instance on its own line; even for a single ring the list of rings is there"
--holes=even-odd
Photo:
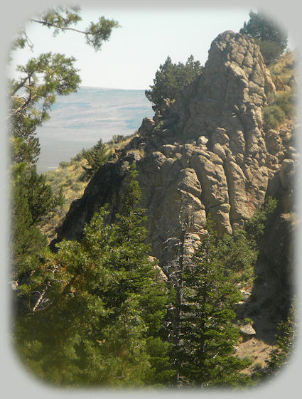
[[[190,257],[209,213],[223,235],[242,227],[268,196],[278,198],[264,232],[256,282],[241,287],[247,298],[240,318],[251,317],[257,331],[254,361],[259,358],[257,348],[268,353],[274,343],[276,325],[286,315],[293,290],[298,156],[292,68],[291,55],[285,55],[270,74],[254,41],[231,31],[217,36],[203,75],[175,101],[165,100],[153,119],[143,119],[139,135],[112,154],[82,198],[72,203],[58,233],[58,240],[79,240],[85,223],[105,203],[113,218],[123,196],[125,171],[135,162],[151,255],[173,281],[180,246],[183,257]],[[251,345],[242,346],[251,350]],[[244,353],[242,347],[238,351]]]

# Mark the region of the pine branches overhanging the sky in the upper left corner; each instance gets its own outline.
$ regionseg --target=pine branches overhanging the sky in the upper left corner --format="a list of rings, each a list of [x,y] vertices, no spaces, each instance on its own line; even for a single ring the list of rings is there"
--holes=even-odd
[[[87,29],[80,31],[75,24],[81,21],[79,7],[57,7],[49,9],[31,19],[33,23],[53,28],[56,36],[66,30],[85,36],[88,45],[100,50],[103,41],[108,41],[113,28],[119,24],[102,16],[97,23],[90,23]],[[18,48],[33,47],[25,28],[13,43],[12,54]],[[43,53],[31,58],[25,65],[18,65],[18,79],[9,82],[9,128],[13,137],[22,139],[18,151],[13,154],[13,162],[24,161],[34,164],[39,155],[36,128],[48,119],[48,112],[57,95],[75,92],[80,84],[78,70],[74,66],[75,58],[58,53]]]

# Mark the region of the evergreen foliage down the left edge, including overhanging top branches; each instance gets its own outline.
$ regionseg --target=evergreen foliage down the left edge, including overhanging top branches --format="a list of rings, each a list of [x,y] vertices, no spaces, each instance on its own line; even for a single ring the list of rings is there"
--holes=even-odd
[[[108,40],[112,28],[118,26],[117,22],[102,17],[98,23],[91,23],[86,31],[79,31],[72,26],[80,20],[78,7],[65,6],[49,9],[31,19],[34,23],[53,28],[54,35],[67,29],[82,33],[95,50],[99,50],[102,41]],[[33,43],[26,30],[22,29],[12,45],[11,58],[14,51],[25,46],[32,48]],[[36,173],[35,165],[40,153],[36,129],[48,119],[56,96],[77,90],[80,76],[74,63],[73,57],[42,53],[30,58],[25,65],[18,65],[18,78],[9,81],[13,279],[22,280],[31,272],[31,265],[41,257],[46,240],[38,229],[38,223],[46,213],[63,202],[62,193],[53,196],[45,178]]]

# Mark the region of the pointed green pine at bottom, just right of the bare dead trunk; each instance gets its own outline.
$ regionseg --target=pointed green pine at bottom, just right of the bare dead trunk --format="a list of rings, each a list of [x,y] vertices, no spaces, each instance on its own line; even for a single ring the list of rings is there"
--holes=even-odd
[[[239,371],[249,361],[234,356],[239,332],[232,323],[234,304],[241,294],[232,280],[231,265],[222,260],[210,224],[207,232],[192,265],[183,272],[180,344],[171,355],[183,385],[245,385],[250,379]]]

